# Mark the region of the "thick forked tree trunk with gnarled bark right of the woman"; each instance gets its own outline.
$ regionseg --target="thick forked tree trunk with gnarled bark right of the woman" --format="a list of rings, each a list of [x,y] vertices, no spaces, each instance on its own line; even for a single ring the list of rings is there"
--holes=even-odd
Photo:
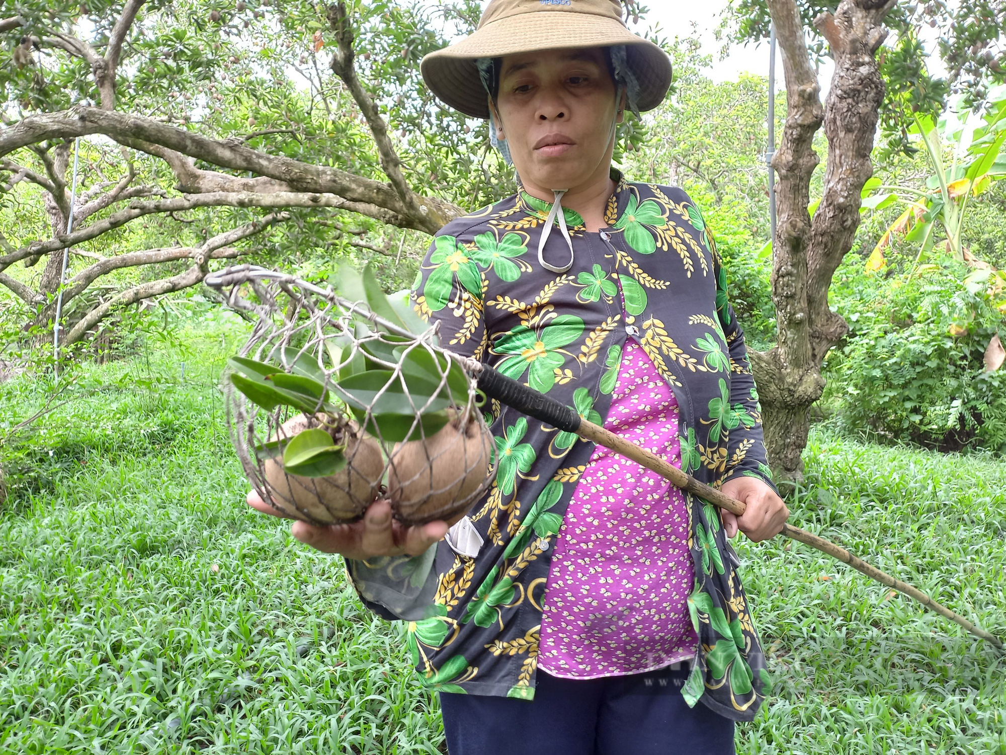
[[[776,479],[803,479],[811,405],[821,398],[828,350],[848,332],[828,306],[831,278],[852,248],[860,195],[872,175],[870,152],[884,84],[876,50],[887,36],[882,22],[895,0],[842,0],[815,25],[827,39],[835,74],[825,108],[804,42],[794,0],[768,0],[786,73],[787,117],[773,167],[779,224],[773,240],[772,291],[777,345],[751,355],[765,422],[766,449]],[[824,193],[813,219],[810,181],[819,162],[814,136],[828,137]]]

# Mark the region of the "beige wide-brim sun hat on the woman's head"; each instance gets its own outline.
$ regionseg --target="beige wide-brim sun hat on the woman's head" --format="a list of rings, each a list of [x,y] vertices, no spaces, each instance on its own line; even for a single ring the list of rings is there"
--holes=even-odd
[[[631,32],[619,0],[492,0],[479,26],[464,39],[423,58],[423,80],[444,103],[466,116],[489,118],[476,63],[545,49],[625,45],[639,82],[637,107],[653,110],[671,86],[671,60],[660,47]]]

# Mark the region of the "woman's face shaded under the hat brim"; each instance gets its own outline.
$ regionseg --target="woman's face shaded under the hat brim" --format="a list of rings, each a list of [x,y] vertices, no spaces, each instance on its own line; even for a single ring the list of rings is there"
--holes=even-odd
[[[608,178],[616,103],[602,48],[507,55],[496,104],[525,186],[575,191]]]

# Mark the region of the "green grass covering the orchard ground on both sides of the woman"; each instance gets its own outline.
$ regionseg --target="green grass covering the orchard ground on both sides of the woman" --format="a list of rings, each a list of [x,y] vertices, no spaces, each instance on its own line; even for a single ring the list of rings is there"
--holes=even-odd
[[[400,628],[243,505],[216,390],[241,338],[81,368],[0,449],[0,752],[444,751]],[[43,402],[0,386],[0,434]],[[795,523],[1006,636],[1006,464],[822,429],[806,458]],[[799,544],[738,550],[775,681],[738,752],[1006,754],[1003,655]]]

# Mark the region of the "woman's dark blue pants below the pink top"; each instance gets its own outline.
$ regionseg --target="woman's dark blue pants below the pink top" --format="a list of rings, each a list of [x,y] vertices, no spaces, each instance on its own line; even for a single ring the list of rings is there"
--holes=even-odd
[[[681,697],[660,669],[564,680],[538,670],[534,700],[441,693],[450,755],[733,755],[733,722]]]

